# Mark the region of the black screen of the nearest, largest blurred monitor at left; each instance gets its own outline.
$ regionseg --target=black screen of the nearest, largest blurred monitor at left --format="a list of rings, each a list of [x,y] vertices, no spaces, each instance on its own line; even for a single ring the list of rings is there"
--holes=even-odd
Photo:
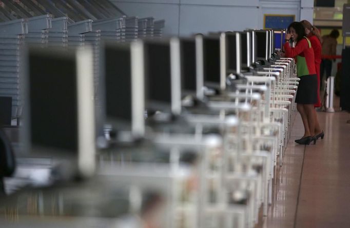
[[[29,134],[33,147],[77,152],[75,55],[29,52]]]

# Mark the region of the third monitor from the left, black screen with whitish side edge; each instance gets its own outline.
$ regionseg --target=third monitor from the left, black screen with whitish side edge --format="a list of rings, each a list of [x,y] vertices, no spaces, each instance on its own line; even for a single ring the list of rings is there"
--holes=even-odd
[[[181,113],[179,38],[144,40],[146,108]]]

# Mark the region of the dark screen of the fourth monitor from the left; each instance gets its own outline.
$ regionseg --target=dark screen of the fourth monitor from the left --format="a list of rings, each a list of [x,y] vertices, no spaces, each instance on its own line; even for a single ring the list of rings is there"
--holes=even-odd
[[[196,42],[191,39],[180,40],[181,59],[181,91],[196,95],[197,69],[196,69]]]

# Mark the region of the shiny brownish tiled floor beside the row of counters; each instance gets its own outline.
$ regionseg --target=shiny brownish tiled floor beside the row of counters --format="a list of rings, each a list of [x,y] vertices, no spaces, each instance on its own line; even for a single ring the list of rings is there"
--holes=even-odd
[[[318,112],[318,118],[324,139],[302,146],[294,142],[304,133],[302,121],[293,116],[263,228],[350,227],[350,113]]]

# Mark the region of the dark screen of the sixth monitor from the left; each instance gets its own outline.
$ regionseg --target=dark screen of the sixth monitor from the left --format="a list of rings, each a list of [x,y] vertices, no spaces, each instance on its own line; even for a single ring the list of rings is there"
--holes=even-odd
[[[226,33],[226,67],[227,73],[236,73],[237,69],[237,44],[236,33]]]

